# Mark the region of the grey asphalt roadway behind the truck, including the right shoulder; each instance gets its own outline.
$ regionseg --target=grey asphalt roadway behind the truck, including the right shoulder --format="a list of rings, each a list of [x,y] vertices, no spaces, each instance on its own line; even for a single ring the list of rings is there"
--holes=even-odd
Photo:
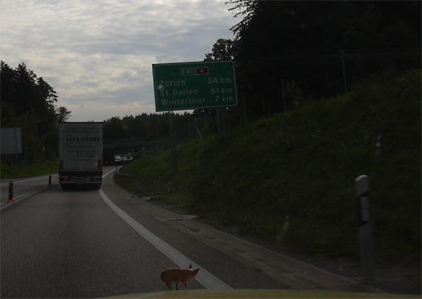
[[[104,173],[110,170],[106,167]],[[185,260],[198,265],[203,275],[188,288],[210,288],[212,279],[217,288],[289,288],[224,250],[184,234],[172,222],[134,207],[110,174],[101,191],[62,191],[55,183],[1,210],[1,298],[98,298],[166,291],[160,272]],[[152,243],[136,225],[151,233]],[[174,253],[181,255],[179,260],[174,260]]]

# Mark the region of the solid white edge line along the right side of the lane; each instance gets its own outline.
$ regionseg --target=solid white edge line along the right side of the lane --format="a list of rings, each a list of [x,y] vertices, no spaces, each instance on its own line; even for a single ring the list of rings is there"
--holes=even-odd
[[[110,173],[110,172],[108,172]],[[170,244],[162,241],[162,239],[155,236],[152,231],[148,230],[146,227],[143,227],[142,224],[136,222],[132,217],[130,217],[126,212],[121,210],[113,201],[110,201],[110,198],[106,196],[106,193],[103,192],[102,189],[98,190],[100,196],[103,198],[108,206],[124,220],[127,224],[129,224],[138,234],[140,234],[143,238],[146,238],[146,241],[151,243],[155,248],[160,250],[164,255],[166,255],[170,260],[172,260],[176,265],[179,267],[186,267],[187,265],[192,265],[194,269],[200,268],[198,275],[196,276],[196,280],[200,282],[205,288],[210,290],[231,290],[231,286],[226,284],[224,281],[221,281],[216,276],[212,275],[210,272],[207,272],[203,267],[193,262],[188,257],[180,253],[177,249],[170,246]]]

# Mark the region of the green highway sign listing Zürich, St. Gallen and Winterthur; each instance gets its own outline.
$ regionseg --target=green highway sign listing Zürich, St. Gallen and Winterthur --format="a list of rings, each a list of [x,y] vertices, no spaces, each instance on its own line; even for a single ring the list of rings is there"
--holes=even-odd
[[[233,61],[153,64],[155,110],[236,106]]]

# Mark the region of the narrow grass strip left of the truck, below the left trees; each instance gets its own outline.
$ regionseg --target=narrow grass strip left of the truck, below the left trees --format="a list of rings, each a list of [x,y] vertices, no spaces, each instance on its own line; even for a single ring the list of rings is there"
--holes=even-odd
[[[44,174],[52,174],[58,172],[58,160],[32,164],[7,164],[1,163],[0,178],[1,179],[18,179],[23,177],[37,177]]]

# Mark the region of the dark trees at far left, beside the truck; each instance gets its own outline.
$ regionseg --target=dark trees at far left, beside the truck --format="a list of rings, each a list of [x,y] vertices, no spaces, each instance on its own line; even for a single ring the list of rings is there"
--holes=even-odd
[[[37,77],[25,63],[11,68],[0,65],[1,128],[20,127],[25,162],[54,158],[58,151],[58,125],[70,117],[65,107],[57,108],[57,94],[43,77]],[[2,157],[6,162],[8,157]]]

